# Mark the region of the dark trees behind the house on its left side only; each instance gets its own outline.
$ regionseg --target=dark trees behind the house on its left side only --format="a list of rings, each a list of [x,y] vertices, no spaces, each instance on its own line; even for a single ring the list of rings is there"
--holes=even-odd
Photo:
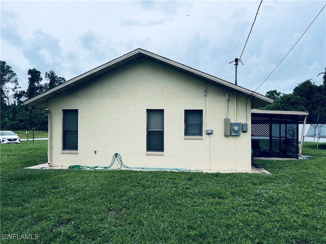
[[[41,72],[28,71],[28,88],[22,90],[17,74],[3,60],[1,62],[1,130],[47,130],[47,114],[32,107],[20,106],[21,102],[31,99],[46,90],[64,83],[65,78],[58,77],[54,71],[45,72],[46,82],[42,82]]]

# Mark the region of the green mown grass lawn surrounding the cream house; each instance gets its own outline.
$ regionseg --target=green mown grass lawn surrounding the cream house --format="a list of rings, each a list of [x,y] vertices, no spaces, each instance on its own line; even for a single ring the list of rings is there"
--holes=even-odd
[[[255,160],[270,175],[26,170],[47,141],[3,144],[1,243],[326,243],[326,150],[311,144],[309,160]]]

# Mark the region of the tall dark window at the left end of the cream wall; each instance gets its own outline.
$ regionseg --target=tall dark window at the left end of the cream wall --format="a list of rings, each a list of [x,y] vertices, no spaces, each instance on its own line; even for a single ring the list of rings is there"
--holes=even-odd
[[[63,150],[78,150],[78,110],[63,110]]]

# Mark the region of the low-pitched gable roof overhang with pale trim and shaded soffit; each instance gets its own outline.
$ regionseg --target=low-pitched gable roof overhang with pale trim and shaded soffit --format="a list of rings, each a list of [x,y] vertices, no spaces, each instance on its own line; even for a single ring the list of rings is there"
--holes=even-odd
[[[242,95],[251,97],[252,108],[264,106],[264,105],[274,102],[273,99],[269,99],[261,94],[252,92],[249,89],[243,88],[243,87],[235,85],[231,82],[222,80],[220,78],[206,74],[199,70],[196,70],[191,67],[177,63],[171,59],[168,59],[168,58],[159,56],[157,54],[151,53],[149,51],[146,51],[144,49],[138,48],[138,49],[135,49],[134,51],[131,51],[121,57],[113,59],[112,61],[110,61],[104,65],[101,65],[93,70],[90,70],[82,75],[72,78],[71,80],[68,80],[65,83],[62,83],[56,87],[53,87],[52,89],[49,89],[46,92],[35,96],[34,98],[26,100],[26,101],[22,102],[21,105],[47,108],[47,105],[44,103],[47,102],[48,100],[50,100],[51,98],[56,97],[60,94],[63,94],[65,92],[67,92],[68,90],[73,89],[76,86],[83,84],[85,82],[91,81],[105,73],[108,73],[115,69],[118,69],[128,63],[131,63],[131,62],[141,58],[141,57],[147,57],[149,59],[154,60],[155,62],[167,65],[174,69],[185,72],[189,75],[196,76],[196,77],[201,78],[207,82],[225,87],[233,92],[238,92]]]

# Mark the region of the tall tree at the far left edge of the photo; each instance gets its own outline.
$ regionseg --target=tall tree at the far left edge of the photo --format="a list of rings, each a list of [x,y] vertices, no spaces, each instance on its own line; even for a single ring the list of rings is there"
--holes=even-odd
[[[6,105],[9,105],[10,103],[9,91],[13,90],[15,92],[19,87],[18,87],[17,74],[12,70],[12,67],[7,65],[5,61],[0,60],[0,63],[1,63],[1,67],[0,67],[1,107],[4,107]]]

